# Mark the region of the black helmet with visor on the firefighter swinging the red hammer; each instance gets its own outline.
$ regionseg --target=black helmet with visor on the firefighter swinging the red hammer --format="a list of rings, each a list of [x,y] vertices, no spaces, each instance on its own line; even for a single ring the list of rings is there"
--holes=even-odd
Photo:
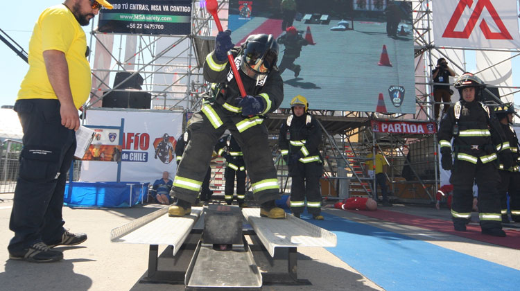
[[[276,66],[278,44],[272,35],[250,35],[242,47],[240,69],[250,78],[258,80]]]

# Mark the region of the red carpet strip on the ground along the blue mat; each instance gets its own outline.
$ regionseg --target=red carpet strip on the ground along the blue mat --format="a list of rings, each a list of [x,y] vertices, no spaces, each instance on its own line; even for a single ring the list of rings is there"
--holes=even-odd
[[[377,211],[351,211],[365,215],[371,218],[377,218],[389,222],[396,222],[399,224],[407,224],[413,227],[422,227],[423,229],[430,229],[433,231],[439,231],[444,233],[453,234],[454,236],[462,236],[463,238],[471,238],[472,240],[480,240],[485,243],[491,243],[494,245],[501,245],[503,247],[510,247],[512,249],[520,249],[520,231],[511,229],[504,229],[508,236],[505,238],[497,238],[494,236],[485,236],[480,233],[480,227],[469,224],[467,231],[455,231],[453,229],[453,223],[448,220],[440,220],[434,218],[424,218],[417,215],[411,215],[406,213],[400,213],[397,211],[388,210],[377,210]]]

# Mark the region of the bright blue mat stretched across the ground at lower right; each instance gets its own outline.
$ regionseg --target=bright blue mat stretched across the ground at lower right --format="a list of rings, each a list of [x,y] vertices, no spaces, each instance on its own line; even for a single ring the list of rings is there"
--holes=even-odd
[[[385,290],[519,290],[520,271],[393,233],[322,213],[302,218],[338,236],[327,248]]]

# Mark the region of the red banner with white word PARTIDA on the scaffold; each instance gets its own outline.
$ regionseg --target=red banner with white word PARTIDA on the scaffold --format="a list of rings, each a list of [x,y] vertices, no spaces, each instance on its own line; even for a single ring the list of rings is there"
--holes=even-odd
[[[434,134],[437,132],[434,122],[371,121],[371,123],[373,132],[395,134]]]

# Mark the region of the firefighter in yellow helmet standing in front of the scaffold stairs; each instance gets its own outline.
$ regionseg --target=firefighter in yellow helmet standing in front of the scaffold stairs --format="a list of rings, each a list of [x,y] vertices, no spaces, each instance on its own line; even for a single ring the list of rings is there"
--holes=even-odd
[[[320,177],[323,173],[322,158],[318,145],[322,130],[318,121],[307,112],[309,103],[298,95],[291,100],[293,114],[281,125],[279,146],[281,155],[289,166],[291,184],[291,212],[297,218],[307,211],[315,220],[323,220],[321,213]]]

